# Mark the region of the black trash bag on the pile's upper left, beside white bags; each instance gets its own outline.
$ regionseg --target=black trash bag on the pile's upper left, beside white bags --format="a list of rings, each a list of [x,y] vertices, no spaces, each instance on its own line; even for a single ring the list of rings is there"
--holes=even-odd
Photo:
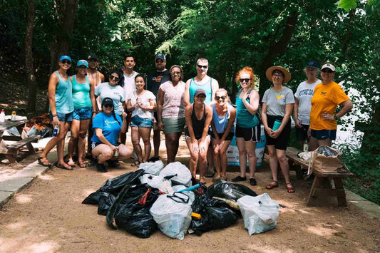
[[[118,195],[125,185],[137,185],[140,182],[138,177],[144,174],[144,170],[136,170],[135,172],[128,172],[118,177],[108,179],[99,190],[101,192],[110,192],[113,195]]]

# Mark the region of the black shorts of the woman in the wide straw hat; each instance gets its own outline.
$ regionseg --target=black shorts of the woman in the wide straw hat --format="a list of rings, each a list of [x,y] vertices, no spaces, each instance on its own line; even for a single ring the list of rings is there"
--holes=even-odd
[[[273,124],[275,120],[282,120],[281,116],[272,116],[267,115],[267,123],[269,128],[273,128]],[[267,140],[267,145],[274,145],[274,148],[277,150],[287,150],[287,145],[289,144],[290,138],[290,119],[285,125],[282,132],[279,134],[277,138],[272,138],[268,135],[267,131],[265,131],[265,138]]]

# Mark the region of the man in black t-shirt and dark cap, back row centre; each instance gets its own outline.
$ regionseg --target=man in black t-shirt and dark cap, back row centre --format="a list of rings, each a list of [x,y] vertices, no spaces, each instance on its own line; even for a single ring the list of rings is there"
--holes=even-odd
[[[166,69],[166,57],[163,53],[158,53],[155,56],[155,71],[148,73],[148,81],[146,89],[151,91],[155,97],[158,97],[158,89],[162,83],[169,81],[170,71]],[[154,113],[155,122],[153,125],[153,146],[154,146],[154,155],[153,158],[150,158],[148,162],[155,162],[160,160],[158,156],[158,151],[160,149],[160,129],[157,127],[157,112]]]

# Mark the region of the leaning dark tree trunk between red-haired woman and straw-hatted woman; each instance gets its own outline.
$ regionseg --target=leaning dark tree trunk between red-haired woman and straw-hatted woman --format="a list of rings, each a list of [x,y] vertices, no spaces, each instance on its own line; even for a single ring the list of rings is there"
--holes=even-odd
[[[272,66],[272,59],[274,56],[282,56],[285,51],[287,50],[287,46],[290,42],[290,38],[292,38],[292,34],[295,28],[295,25],[297,23],[298,14],[296,11],[293,11],[289,18],[287,18],[287,23],[284,29],[284,32],[282,33],[281,38],[279,38],[278,41],[275,41],[276,37],[274,35],[274,39],[272,43],[269,45],[269,51],[267,53],[267,56],[265,56],[264,60],[260,64],[260,87],[259,87],[259,94],[260,98],[265,93],[265,90],[269,88],[270,83],[267,81],[267,78],[265,76],[265,71],[267,71],[267,68]],[[277,31],[280,29],[280,27],[277,28]]]

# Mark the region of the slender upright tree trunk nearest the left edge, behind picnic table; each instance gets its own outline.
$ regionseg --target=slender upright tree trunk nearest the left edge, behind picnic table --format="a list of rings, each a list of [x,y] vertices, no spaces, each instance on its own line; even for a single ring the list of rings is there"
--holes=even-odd
[[[33,29],[34,29],[34,0],[29,0],[29,10],[28,16],[26,17],[26,34],[25,34],[25,68],[27,83],[29,86],[29,97],[28,97],[28,110],[29,112],[36,111],[36,76],[34,76],[34,66],[33,66],[33,54],[32,54],[32,43],[33,43]]]

